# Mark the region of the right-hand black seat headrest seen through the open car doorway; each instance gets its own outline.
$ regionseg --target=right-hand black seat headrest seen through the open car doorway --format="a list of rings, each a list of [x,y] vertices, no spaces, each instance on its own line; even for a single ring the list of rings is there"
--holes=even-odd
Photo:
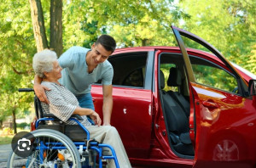
[[[170,69],[170,74],[169,74],[169,78],[167,81],[167,85],[169,87],[179,87],[179,86],[181,86],[181,84],[182,84],[181,72],[177,68],[172,67]]]

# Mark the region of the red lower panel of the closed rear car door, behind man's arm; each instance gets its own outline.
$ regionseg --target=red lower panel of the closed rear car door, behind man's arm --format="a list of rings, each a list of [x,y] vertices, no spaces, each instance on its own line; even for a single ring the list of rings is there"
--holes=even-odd
[[[91,92],[96,112],[102,117],[102,87],[94,86]],[[119,131],[131,158],[148,157],[152,132],[151,94],[146,89],[113,87],[111,124]]]

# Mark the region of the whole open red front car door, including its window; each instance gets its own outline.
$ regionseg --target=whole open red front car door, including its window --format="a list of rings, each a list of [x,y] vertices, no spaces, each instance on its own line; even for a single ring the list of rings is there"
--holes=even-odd
[[[195,148],[194,167],[248,165],[249,160],[255,160],[249,156],[253,154],[250,145],[255,150],[255,136],[247,136],[255,130],[255,107],[247,93],[247,82],[212,45],[175,26],[172,30],[189,81],[189,133]],[[218,61],[195,61],[184,42],[194,42],[193,48],[206,48]]]

